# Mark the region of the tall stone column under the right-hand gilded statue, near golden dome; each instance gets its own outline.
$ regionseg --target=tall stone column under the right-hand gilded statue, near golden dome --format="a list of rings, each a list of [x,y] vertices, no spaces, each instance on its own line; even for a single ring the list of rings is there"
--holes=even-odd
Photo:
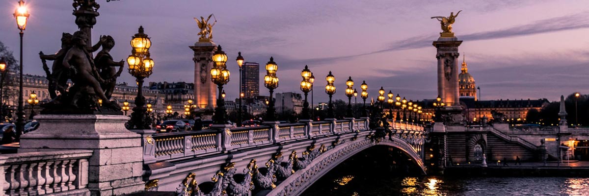
[[[447,107],[460,107],[458,74],[458,46],[462,44],[455,36],[441,36],[434,41],[438,59],[438,94]]]

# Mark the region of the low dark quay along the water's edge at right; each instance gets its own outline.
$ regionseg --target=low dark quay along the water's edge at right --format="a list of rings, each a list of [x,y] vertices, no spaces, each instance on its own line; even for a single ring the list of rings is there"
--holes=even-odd
[[[432,172],[428,174],[434,174]],[[441,173],[447,176],[489,176],[489,177],[589,177],[589,161],[576,162],[522,162],[521,165],[509,163],[480,165],[452,165]]]

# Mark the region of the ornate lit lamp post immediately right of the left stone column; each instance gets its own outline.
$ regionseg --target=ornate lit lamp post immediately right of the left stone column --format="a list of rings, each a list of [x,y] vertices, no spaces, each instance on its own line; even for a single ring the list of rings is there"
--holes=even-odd
[[[217,85],[219,91],[217,108],[215,108],[215,114],[213,115],[213,123],[226,124],[227,111],[225,109],[225,98],[223,97],[223,85],[229,82],[230,72],[227,70],[226,66],[227,55],[223,52],[223,49],[221,49],[221,45],[217,47],[217,51],[213,54],[213,62],[215,62],[215,64],[213,68],[211,68],[211,80]]]

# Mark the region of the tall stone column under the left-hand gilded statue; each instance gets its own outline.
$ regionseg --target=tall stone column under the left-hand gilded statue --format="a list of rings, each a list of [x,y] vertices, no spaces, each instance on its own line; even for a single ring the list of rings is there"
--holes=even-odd
[[[211,81],[210,70],[213,68],[213,53],[217,50],[217,44],[200,40],[190,49],[194,51],[194,99],[197,110],[212,114],[216,107],[217,86]]]

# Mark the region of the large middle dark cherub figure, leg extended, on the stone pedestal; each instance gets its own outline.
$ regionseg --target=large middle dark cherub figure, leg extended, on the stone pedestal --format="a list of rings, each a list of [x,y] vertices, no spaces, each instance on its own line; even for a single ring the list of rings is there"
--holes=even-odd
[[[109,108],[119,108],[118,105],[112,102],[104,95],[104,91],[100,87],[100,80],[94,61],[91,58],[91,53],[86,49],[86,42],[88,36],[83,31],[76,31],[72,36],[72,47],[65,54],[63,66],[65,69],[70,69],[72,72],[72,81],[77,88],[70,95],[72,104],[77,105],[82,92],[92,94],[92,92],[102,100],[102,105]]]

